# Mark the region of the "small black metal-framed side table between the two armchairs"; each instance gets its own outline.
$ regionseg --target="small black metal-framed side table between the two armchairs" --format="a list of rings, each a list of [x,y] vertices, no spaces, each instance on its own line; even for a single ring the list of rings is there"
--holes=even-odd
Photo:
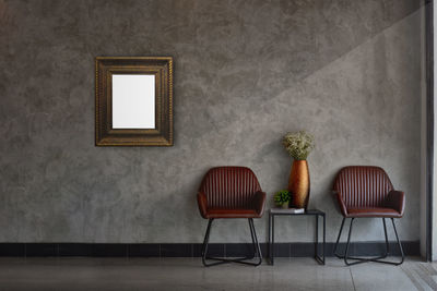
[[[270,265],[274,265],[274,217],[275,216],[315,216],[316,217],[316,242],[315,242],[315,259],[320,264],[324,265],[324,254],[326,254],[326,237],[327,237],[327,222],[326,215],[319,209],[308,209],[303,214],[291,214],[291,213],[273,213],[269,210],[269,259]],[[323,219],[323,255],[319,255],[319,217]]]

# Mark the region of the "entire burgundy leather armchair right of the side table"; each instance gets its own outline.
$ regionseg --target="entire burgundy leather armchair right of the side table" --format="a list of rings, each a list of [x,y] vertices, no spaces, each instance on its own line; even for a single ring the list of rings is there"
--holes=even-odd
[[[379,167],[373,166],[344,167],[336,175],[333,190],[340,206],[340,211],[343,215],[339,237],[334,246],[334,254],[343,258],[346,265],[355,265],[364,262],[378,262],[393,265],[402,264],[404,254],[394,226],[394,218],[401,218],[403,216],[405,195],[401,191],[393,190],[393,185],[386,171]],[[351,218],[346,248],[344,255],[339,255],[336,248],[346,218]],[[374,258],[349,256],[352,227],[355,218],[382,218],[386,237],[386,253],[382,256]],[[399,263],[382,260],[382,258],[386,258],[390,254],[386,218],[390,218],[393,225],[394,234],[402,256]],[[350,263],[349,259],[356,259],[356,262]]]

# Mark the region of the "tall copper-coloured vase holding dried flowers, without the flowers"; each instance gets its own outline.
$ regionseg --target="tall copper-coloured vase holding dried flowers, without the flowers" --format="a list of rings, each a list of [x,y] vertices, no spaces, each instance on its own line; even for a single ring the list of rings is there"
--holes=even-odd
[[[293,161],[288,179],[288,191],[292,195],[292,205],[306,210],[309,199],[309,171],[306,160]]]

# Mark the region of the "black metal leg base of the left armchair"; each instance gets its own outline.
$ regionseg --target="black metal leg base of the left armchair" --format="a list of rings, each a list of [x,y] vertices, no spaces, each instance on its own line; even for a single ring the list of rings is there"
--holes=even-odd
[[[221,264],[227,264],[227,263],[239,263],[239,264],[245,264],[245,265],[250,265],[250,266],[259,266],[262,263],[261,247],[259,245],[258,238],[257,238],[257,232],[255,230],[253,219],[249,218],[248,220],[249,220],[250,237],[252,239],[253,255],[252,256],[246,256],[246,257],[239,257],[239,258],[221,258],[221,257],[210,257],[210,256],[208,256],[208,243],[209,243],[209,240],[210,240],[211,225],[212,225],[213,219],[209,220],[205,238],[203,240],[203,245],[202,245],[202,263],[203,263],[203,265],[205,267],[211,267],[211,266],[221,265]],[[259,257],[258,262],[256,262],[256,263],[246,262],[248,259],[255,258],[257,255]],[[213,260],[218,260],[218,262],[208,263],[206,259],[213,259]]]

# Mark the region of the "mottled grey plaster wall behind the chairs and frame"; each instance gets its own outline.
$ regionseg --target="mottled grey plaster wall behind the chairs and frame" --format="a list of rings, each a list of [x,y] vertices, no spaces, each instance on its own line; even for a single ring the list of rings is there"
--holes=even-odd
[[[346,165],[378,165],[406,192],[403,240],[420,235],[418,1],[0,0],[0,241],[201,242],[196,190],[213,166],[286,186],[287,131],[316,136],[310,206],[341,217]],[[175,146],[94,146],[94,58],[173,56]],[[270,205],[269,201],[269,205]],[[277,219],[280,241],[312,220]],[[214,241],[245,241],[218,221]],[[256,221],[265,241],[267,216]],[[382,240],[358,221],[357,240]]]

